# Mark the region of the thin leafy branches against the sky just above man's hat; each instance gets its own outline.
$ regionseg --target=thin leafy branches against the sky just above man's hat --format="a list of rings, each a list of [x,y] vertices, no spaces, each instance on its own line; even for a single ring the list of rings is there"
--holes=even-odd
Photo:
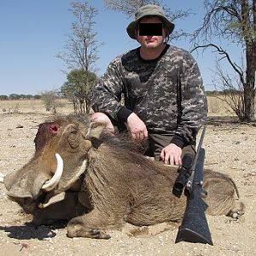
[[[161,0],[105,0],[105,5],[108,9],[117,10],[129,18],[136,13],[137,9],[146,4],[160,5],[163,7],[169,20],[172,20],[174,23],[175,20],[186,18],[191,14],[189,10],[177,10],[175,13],[173,13],[172,9],[166,5],[163,5],[162,2],[163,1]],[[168,40],[177,40],[177,38],[180,39],[181,37],[187,36],[189,36],[189,33],[179,29],[172,32]]]

